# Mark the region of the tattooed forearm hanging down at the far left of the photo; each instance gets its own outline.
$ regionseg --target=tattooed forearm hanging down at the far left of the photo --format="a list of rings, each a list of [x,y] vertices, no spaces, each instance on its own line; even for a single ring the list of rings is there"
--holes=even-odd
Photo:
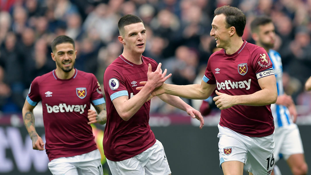
[[[24,110],[22,111],[24,124],[26,127],[26,130],[28,131],[31,140],[34,138],[37,138],[38,134],[35,129],[35,116],[33,111]]]

